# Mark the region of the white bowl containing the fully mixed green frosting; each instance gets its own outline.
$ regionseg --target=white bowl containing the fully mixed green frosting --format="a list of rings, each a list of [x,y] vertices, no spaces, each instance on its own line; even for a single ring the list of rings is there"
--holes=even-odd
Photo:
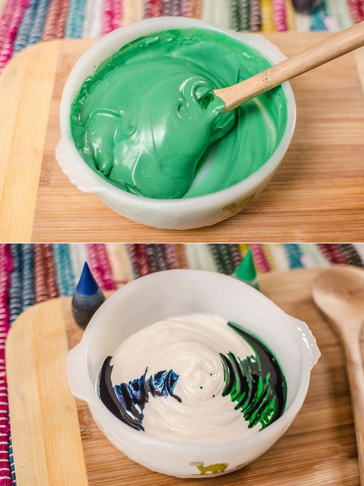
[[[292,139],[296,104],[289,83],[283,84],[287,98],[287,125],[283,137],[267,162],[251,176],[222,191],[186,199],[152,199],[127,193],[98,176],[77,151],[70,129],[70,107],[87,76],[112,52],[140,36],[159,30],[202,27],[226,33],[261,52],[273,64],[285,56],[257,34],[240,34],[201,20],[185,17],[158,17],[117,29],[97,41],[76,62],[66,81],[60,105],[61,139],[56,157],[63,172],[79,189],[96,194],[113,211],[155,228],[185,230],[209,226],[246,207],[272,179]]]

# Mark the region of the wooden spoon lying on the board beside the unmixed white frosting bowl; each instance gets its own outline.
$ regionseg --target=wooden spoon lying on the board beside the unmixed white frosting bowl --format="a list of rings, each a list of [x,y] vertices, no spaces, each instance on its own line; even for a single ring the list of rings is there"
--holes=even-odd
[[[364,372],[359,346],[364,322],[364,278],[343,268],[322,272],[312,295],[341,341],[346,358],[357,438],[359,472],[364,485]]]

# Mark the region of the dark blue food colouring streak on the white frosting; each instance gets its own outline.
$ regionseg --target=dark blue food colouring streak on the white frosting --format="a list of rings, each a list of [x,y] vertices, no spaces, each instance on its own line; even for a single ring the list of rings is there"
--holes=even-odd
[[[173,370],[158,371],[154,375],[146,377],[148,368],[144,374],[129,383],[112,385],[110,365],[111,356],[108,356],[101,368],[98,377],[98,396],[102,403],[118,419],[136,430],[144,430],[142,421],[143,409],[149,401],[149,394],[156,396],[173,396],[181,402],[181,398],[173,393],[179,375]]]

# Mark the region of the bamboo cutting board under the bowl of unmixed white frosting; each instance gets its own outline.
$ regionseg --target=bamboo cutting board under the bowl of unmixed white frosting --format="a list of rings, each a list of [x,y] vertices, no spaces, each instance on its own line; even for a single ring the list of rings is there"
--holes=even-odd
[[[320,270],[259,276],[261,290],[306,321],[321,358],[306,401],[273,447],[240,471],[205,478],[204,486],[357,486],[358,458],[341,349],[313,304]],[[70,298],[24,312],[6,346],[10,422],[18,486],[201,486],[151,472],[118,451],[99,431],[87,405],[66,384],[65,359],[82,337]],[[362,346],[364,350],[364,346]]]

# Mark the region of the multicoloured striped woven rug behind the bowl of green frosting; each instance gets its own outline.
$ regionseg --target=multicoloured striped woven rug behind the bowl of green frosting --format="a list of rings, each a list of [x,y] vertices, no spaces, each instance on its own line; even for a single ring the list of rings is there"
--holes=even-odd
[[[0,15],[1,70],[26,46],[62,37],[98,37],[142,18],[182,15],[253,32],[337,31],[364,20],[364,1],[0,0]]]

